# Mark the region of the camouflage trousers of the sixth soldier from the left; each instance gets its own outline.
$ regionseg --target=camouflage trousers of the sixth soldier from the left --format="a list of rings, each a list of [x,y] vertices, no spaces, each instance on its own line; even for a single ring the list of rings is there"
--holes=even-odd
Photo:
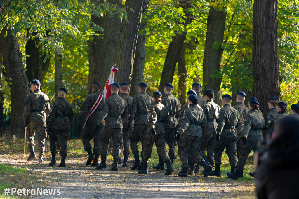
[[[141,157],[143,157],[144,153],[144,140],[147,135],[147,127],[147,124],[135,124],[130,135],[130,147],[133,154],[139,153],[137,143],[141,137]]]

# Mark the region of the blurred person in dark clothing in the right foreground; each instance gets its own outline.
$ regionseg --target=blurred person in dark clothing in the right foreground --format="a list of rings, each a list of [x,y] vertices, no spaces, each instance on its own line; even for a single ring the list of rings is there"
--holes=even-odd
[[[299,198],[299,119],[284,117],[274,131],[277,137],[254,175],[257,198]]]

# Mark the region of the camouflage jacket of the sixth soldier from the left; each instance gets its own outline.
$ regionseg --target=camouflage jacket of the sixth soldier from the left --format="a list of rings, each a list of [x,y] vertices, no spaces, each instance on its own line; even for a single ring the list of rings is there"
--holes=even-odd
[[[146,92],[140,92],[133,97],[129,124],[149,124],[149,107],[152,104],[152,97]]]

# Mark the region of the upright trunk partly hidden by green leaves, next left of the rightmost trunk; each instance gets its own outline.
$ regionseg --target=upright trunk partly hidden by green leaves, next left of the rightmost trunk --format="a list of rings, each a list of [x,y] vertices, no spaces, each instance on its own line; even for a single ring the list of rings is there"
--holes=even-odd
[[[202,62],[202,79],[203,88],[212,89],[214,91],[215,103],[221,104],[221,81],[222,77],[212,79],[210,75],[220,68],[220,61],[222,57],[222,49],[218,45],[214,49],[212,45],[218,41],[223,42],[224,28],[225,28],[226,12],[217,11],[213,6],[210,6],[209,16],[207,19],[207,34],[205,40],[205,51]]]

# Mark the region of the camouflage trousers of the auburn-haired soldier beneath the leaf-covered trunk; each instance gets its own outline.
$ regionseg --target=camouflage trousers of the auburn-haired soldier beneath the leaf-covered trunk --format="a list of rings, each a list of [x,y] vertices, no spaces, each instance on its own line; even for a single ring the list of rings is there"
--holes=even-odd
[[[200,155],[208,158],[210,165],[214,166],[214,145],[216,143],[216,135],[202,134],[202,141],[199,147]],[[207,148],[207,154],[205,154],[205,149]]]

